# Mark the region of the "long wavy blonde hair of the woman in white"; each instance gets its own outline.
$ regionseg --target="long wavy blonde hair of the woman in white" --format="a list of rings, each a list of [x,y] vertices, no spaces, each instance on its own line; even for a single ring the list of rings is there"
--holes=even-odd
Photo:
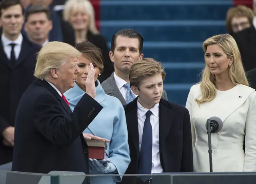
[[[209,45],[214,44],[220,46],[228,58],[234,59],[233,63],[229,67],[229,76],[233,84],[243,84],[249,86],[246,74],[244,72],[240,51],[234,38],[229,34],[218,34],[212,36],[205,40],[203,43],[204,53],[206,53],[207,47]],[[206,56],[204,56],[204,60],[206,62]],[[207,64],[205,64],[204,70],[202,72],[202,80],[200,82],[202,98],[200,100],[196,99],[198,104],[210,102],[215,98],[216,88],[214,85],[214,80],[215,76],[211,74],[209,67]]]

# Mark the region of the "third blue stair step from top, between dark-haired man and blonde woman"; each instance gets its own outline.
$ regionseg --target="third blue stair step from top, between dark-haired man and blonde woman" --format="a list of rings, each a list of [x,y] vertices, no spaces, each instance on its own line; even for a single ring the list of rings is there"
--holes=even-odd
[[[154,58],[160,62],[204,62],[202,42],[144,42],[142,52],[144,58]]]

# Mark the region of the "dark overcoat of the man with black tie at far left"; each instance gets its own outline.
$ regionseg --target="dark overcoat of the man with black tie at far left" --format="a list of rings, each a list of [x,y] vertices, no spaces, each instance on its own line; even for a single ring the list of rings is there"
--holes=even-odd
[[[20,55],[13,67],[0,42],[0,164],[12,161],[13,149],[2,144],[2,132],[8,126],[14,126],[20,98],[34,80],[36,52],[39,50],[40,46],[32,44],[24,36]]]

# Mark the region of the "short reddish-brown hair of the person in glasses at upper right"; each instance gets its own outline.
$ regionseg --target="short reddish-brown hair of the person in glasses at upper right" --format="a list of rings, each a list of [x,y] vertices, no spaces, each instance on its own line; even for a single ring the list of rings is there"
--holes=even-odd
[[[226,14],[226,28],[230,33],[233,32],[231,21],[234,17],[247,17],[250,25],[252,25],[254,13],[250,8],[244,5],[229,8]]]

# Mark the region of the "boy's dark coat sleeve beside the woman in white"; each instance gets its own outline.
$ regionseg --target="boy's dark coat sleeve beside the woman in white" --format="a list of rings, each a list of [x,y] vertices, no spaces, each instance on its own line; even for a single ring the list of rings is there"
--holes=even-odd
[[[181,172],[194,172],[190,115],[187,109],[183,120],[183,150]]]

